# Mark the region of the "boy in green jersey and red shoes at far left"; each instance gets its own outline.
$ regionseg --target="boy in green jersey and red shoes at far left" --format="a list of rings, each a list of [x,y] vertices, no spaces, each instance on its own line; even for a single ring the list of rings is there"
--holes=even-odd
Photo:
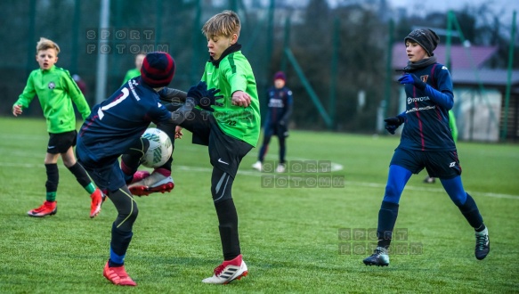
[[[73,149],[76,145],[77,131],[72,102],[76,104],[83,119],[90,115],[90,107],[76,82],[70,77],[69,71],[54,66],[58,61],[58,53],[60,47],[56,43],[45,37],[40,38],[36,45],[36,61],[40,68],[30,73],[23,93],[12,105],[12,114],[17,117],[23,112],[23,108],[28,108],[37,95],[50,135],[45,155],[46,200],[42,206],[29,210],[27,214],[36,217],[56,214],[56,192],[60,178],[57,162],[61,154],[65,167],[69,168],[76,176],[77,182],[90,194],[90,217],[95,217],[101,211],[104,195],[94,186],[85,169],[77,163]]]

